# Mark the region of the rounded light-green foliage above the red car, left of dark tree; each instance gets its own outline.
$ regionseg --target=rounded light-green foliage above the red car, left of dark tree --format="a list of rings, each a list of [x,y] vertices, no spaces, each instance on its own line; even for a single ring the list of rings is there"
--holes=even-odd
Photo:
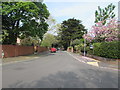
[[[45,34],[45,36],[43,38],[41,46],[52,47],[52,44],[55,44],[55,43],[57,43],[57,40],[56,40],[55,36],[47,33],[47,34]]]

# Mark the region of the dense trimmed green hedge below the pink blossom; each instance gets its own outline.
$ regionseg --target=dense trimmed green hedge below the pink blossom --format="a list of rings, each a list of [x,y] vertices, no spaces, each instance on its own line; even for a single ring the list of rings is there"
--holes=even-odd
[[[94,43],[93,50],[87,49],[89,54],[105,58],[120,58],[120,41]]]

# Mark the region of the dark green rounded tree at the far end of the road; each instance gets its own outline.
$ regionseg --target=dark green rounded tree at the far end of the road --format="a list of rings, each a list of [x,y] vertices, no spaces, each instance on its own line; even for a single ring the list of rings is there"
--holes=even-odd
[[[60,43],[67,49],[72,45],[73,40],[82,38],[85,27],[81,24],[80,20],[68,19],[62,22],[58,36],[60,37]]]

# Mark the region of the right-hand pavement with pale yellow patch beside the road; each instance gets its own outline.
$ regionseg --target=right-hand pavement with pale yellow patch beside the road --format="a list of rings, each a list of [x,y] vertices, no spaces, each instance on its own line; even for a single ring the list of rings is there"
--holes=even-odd
[[[72,52],[67,52],[67,53],[73,56],[74,58],[76,58],[78,61],[89,64],[89,65],[93,65],[101,68],[119,70],[118,61],[103,61],[103,60],[100,61],[97,59],[89,58],[89,57],[82,56],[80,54],[76,54]]]

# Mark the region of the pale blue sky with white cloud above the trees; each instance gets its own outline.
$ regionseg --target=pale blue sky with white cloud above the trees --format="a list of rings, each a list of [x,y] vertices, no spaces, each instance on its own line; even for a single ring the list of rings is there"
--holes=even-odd
[[[101,0],[100,0],[101,1]],[[98,6],[105,8],[110,3],[116,6],[114,12],[118,17],[118,1],[117,0],[44,0],[51,16],[56,19],[57,23],[62,23],[69,18],[75,18],[82,21],[82,24],[89,31],[94,25],[95,10]],[[109,2],[108,2],[109,1]]]

